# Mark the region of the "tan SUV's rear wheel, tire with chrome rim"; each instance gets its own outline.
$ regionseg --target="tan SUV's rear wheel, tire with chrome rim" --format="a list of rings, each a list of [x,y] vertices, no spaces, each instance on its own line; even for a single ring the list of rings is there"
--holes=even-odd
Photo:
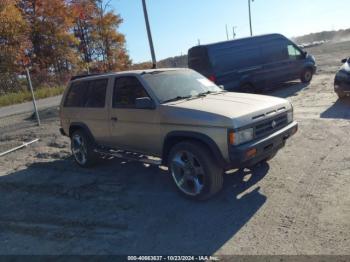
[[[71,150],[75,162],[84,168],[92,167],[98,160],[95,146],[91,138],[83,130],[77,130],[71,135]]]

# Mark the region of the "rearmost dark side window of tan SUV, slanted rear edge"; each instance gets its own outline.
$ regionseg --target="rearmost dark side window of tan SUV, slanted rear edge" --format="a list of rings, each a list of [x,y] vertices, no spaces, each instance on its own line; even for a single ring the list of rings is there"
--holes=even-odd
[[[89,91],[89,83],[86,81],[74,82],[71,84],[66,101],[65,107],[84,107],[87,93]]]

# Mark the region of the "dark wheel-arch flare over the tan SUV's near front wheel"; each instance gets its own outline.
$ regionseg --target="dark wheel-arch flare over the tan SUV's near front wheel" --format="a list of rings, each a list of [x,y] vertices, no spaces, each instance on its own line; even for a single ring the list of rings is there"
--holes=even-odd
[[[194,139],[202,142],[203,144],[208,146],[210,151],[213,153],[213,157],[215,158],[215,160],[218,162],[220,166],[228,165],[227,161],[222,156],[222,153],[219,147],[217,146],[217,144],[214,142],[213,139],[211,139],[209,136],[205,134],[192,132],[192,131],[172,131],[166,135],[164,139],[164,144],[163,144],[162,164],[165,164],[165,165],[167,164],[171,147],[176,142],[181,140],[186,140],[186,139],[187,140]]]

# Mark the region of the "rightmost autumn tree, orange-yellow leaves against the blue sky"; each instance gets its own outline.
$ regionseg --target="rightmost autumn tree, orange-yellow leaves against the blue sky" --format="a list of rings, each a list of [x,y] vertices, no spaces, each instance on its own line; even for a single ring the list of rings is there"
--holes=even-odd
[[[103,0],[72,0],[75,36],[85,65],[92,71],[124,70],[131,64],[125,36],[118,32],[122,18]]]

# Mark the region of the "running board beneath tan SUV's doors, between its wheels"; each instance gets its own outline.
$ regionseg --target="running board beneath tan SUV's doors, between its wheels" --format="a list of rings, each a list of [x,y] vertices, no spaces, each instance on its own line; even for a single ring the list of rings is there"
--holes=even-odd
[[[116,157],[129,161],[138,161],[149,165],[159,166],[162,164],[162,160],[157,157],[146,156],[139,153],[127,152],[122,150],[114,150],[114,149],[95,149],[94,152],[101,154],[102,156],[107,157]]]

